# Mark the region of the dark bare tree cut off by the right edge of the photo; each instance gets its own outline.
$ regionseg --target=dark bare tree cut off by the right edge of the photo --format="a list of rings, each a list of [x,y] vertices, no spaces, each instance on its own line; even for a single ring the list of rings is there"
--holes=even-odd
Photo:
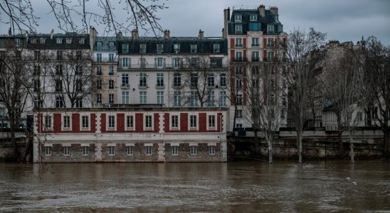
[[[379,109],[376,120],[384,133],[384,153],[389,153],[390,143],[390,48],[374,36],[365,42],[366,84],[372,89],[373,107]],[[374,111],[374,116],[378,112]]]

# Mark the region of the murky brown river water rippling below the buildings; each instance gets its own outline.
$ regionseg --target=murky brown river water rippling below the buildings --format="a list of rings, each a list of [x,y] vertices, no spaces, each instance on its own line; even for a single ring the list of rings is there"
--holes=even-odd
[[[0,164],[0,212],[390,212],[389,160],[39,168]]]

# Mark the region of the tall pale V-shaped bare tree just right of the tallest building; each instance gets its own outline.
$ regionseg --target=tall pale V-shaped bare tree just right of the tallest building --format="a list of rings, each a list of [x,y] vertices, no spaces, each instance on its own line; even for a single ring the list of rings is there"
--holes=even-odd
[[[297,131],[297,153],[299,163],[302,163],[302,131],[305,122],[304,114],[307,110],[307,89],[313,78],[313,68],[318,58],[314,54],[325,40],[325,33],[310,28],[308,32],[294,29],[288,39],[281,45],[284,48],[285,58],[288,60],[288,69],[283,76],[288,83],[288,92],[291,96],[289,107]]]

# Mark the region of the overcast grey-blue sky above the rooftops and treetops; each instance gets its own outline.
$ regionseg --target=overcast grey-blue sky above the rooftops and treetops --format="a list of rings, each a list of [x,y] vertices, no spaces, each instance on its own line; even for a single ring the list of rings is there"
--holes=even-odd
[[[90,0],[94,3],[96,0]],[[197,36],[199,29],[205,36],[220,36],[223,27],[223,9],[233,6],[278,6],[279,19],[284,31],[293,28],[314,27],[327,33],[327,40],[349,41],[376,35],[390,45],[390,0],[160,0],[169,9],[159,11],[160,24],[171,31],[171,36]],[[56,30],[49,16],[46,1],[33,0],[36,13],[41,16],[37,31],[49,33]],[[40,5],[42,4],[42,5]],[[119,10],[118,10],[119,11]],[[124,18],[125,13],[117,13]],[[6,33],[8,26],[0,24]],[[99,27],[97,27],[99,28]],[[102,31],[102,30],[101,30]],[[100,32],[101,32],[100,31]],[[101,35],[101,33],[100,33]]]

